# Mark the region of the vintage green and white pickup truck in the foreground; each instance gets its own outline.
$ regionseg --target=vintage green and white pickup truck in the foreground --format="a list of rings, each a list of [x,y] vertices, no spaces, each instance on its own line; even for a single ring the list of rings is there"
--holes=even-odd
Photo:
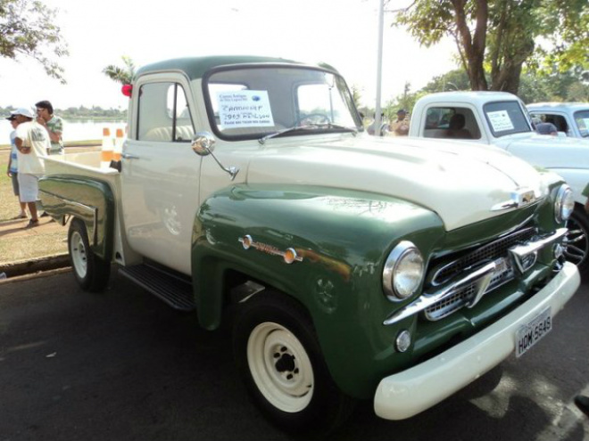
[[[119,265],[205,329],[230,317],[237,368],[285,429],[334,427],[357,399],[422,412],[524,354],[577,290],[559,176],[494,147],[374,139],[335,69],[180,59],[125,90],[119,163],[46,159],[73,274],[103,290]]]

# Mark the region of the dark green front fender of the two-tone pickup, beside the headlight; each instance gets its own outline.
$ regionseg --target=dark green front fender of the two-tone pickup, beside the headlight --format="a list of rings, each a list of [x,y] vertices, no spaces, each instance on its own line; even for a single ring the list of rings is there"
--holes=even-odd
[[[199,320],[205,328],[219,326],[225,272],[246,274],[302,303],[339,387],[369,396],[375,379],[394,369],[385,361],[398,332],[383,326],[396,307],[383,294],[386,257],[401,240],[427,257],[443,236],[435,213],[381,194],[236,185],[205,200],[196,218]],[[298,257],[292,263],[285,259],[289,249]]]

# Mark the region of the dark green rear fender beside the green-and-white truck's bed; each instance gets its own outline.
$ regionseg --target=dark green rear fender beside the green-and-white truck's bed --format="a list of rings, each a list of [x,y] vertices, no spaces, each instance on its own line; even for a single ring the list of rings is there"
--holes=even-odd
[[[62,224],[66,216],[84,221],[92,251],[112,260],[115,201],[109,184],[90,177],[45,176],[39,179],[39,195],[45,211]]]

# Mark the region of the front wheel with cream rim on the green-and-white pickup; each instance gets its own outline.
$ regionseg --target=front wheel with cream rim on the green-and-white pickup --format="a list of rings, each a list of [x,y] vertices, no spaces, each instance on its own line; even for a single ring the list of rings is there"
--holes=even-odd
[[[355,400],[332,380],[303,307],[277,292],[240,307],[233,328],[236,365],[264,416],[296,433],[328,433],[341,425]]]

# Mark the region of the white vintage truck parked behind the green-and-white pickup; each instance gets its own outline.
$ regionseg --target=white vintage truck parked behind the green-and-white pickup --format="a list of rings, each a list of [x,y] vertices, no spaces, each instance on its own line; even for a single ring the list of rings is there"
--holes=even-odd
[[[589,217],[582,194],[589,184],[589,140],[537,135],[524,103],[505,92],[428,94],[415,104],[409,135],[494,145],[562,176],[575,199],[565,256],[582,273],[589,271]]]

